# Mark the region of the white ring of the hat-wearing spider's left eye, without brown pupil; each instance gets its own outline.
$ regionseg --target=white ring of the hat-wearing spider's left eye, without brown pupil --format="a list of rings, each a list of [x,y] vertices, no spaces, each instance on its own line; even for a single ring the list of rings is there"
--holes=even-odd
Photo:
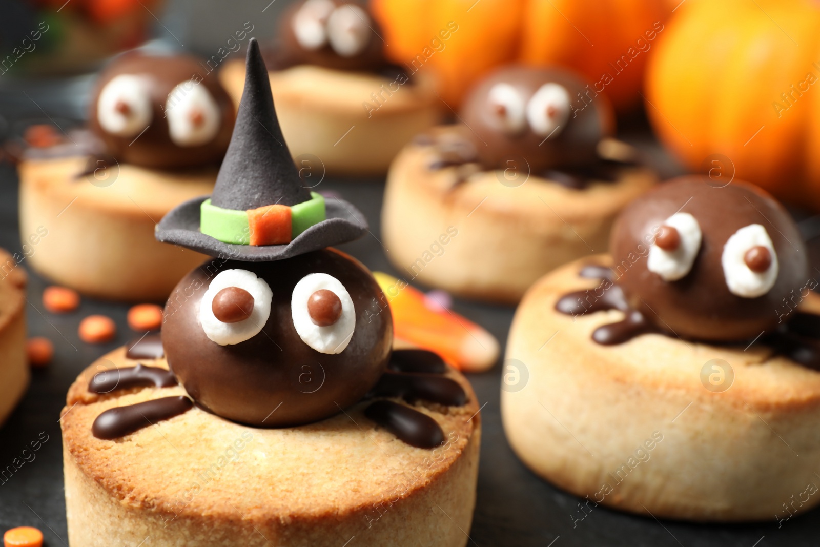
[[[213,299],[222,289],[238,287],[253,297],[253,311],[247,319],[220,321],[213,312]],[[248,270],[223,270],[211,280],[211,285],[199,302],[199,323],[205,335],[220,345],[239,344],[259,334],[271,316],[273,292],[266,281]]]

